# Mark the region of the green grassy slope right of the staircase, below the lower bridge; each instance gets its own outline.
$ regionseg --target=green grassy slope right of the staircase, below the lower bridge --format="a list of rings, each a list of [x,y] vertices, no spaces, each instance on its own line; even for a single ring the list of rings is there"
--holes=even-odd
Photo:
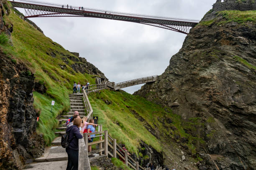
[[[179,116],[172,114],[171,110],[164,109],[143,97],[124,91],[102,90],[91,93],[89,99],[93,115],[99,117],[103,130],[108,130],[111,137],[116,138],[118,143],[125,144],[130,152],[138,155],[140,155],[138,148],[141,141],[161,151],[162,142],[164,143],[166,139],[175,140],[175,135],[180,135],[188,139],[186,145],[192,152],[195,152],[193,143],[202,141],[185,133],[182,126],[188,126],[188,124],[184,124],[185,122]],[[139,121],[138,116],[145,121]],[[167,123],[168,119],[172,120],[172,123]],[[159,139],[149,132],[148,125],[156,129]]]

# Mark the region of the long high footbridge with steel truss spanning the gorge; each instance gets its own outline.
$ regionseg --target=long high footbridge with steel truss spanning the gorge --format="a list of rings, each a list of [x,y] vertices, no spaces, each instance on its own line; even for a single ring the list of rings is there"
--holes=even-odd
[[[131,13],[119,13],[108,10],[97,10],[72,5],[61,5],[34,0],[9,0],[13,7],[23,8],[25,18],[33,17],[91,17],[141,23],[176,32],[188,34],[199,20],[157,17]]]

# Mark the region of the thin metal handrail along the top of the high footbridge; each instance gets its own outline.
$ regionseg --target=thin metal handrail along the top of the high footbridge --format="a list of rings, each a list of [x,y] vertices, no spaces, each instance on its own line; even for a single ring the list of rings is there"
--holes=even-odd
[[[9,0],[10,2],[13,2],[12,0]],[[52,7],[59,7],[62,8],[62,4],[56,4],[56,3],[49,3],[49,2],[41,2],[41,1],[35,1],[35,0],[15,0],[14,2],[22,2],[22,3],[29,3],[31,2],[34,5],[51,5]],[[63,4],[64,5],[64,4]],[[67,7],[67,5],[64,5],[64,8]],[[72,10],[80,10],[81,7],[78,6],[72,6],[69,5],[69,7],[72,7]],[[84,8],[81,11],[91,11],[91,12],[97,12],[97,13],[106,13],[110,15],[126,15],[130,17],[139,17],[139,18],[150,18],[150,19],[158,19],[158,20],[170,20],[170,21],[179,21],[179,22],[189,22],[189,23],[199,23],[200,20],[194,20],[194,19],[185,19],[185,18],[169,18],[169,17],[162,17],[162,16],[154,16],[154,15],[141,15],[141,14],[135,14],[135,13],[120,13],[116,11],[111,10],[100,10],[100,9],[94,9],[94,8]]]

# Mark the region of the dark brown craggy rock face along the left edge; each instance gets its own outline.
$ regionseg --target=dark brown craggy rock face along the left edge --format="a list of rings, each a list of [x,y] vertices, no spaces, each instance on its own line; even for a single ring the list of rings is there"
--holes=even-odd
[[[10,35],[4,24],[8,5],[0,0],[0,33]],[[44,152],[44,139],[36,133],[33,108],[34,76],[28,68],[0,50],[0,169],[22,169],[27,161]]]

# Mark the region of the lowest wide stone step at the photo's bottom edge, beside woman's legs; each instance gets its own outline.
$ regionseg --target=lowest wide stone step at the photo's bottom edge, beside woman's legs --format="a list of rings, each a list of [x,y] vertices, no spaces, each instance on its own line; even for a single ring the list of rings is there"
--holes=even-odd
[[[67,160],[43,163],[31,163],[25,165],[23,170],[66,170]]]

